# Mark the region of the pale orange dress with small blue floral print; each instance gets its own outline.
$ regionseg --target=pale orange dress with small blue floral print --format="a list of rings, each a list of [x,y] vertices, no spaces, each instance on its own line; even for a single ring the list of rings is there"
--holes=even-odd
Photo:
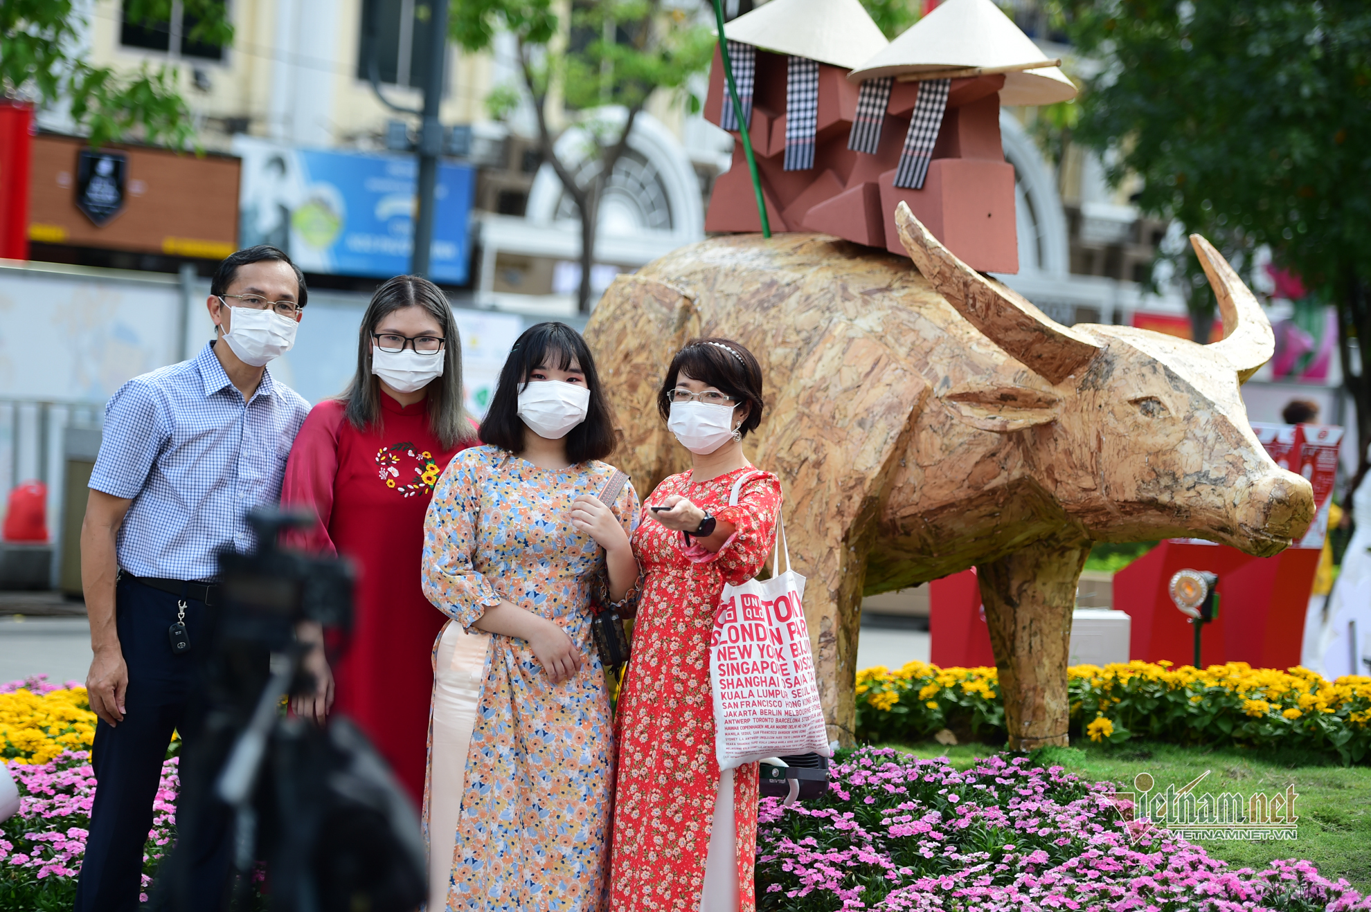
[[[561,624],[584,657],[574,678],[551,685],[526,641],[489,637],[448,882],[454,912],[603,908],[614,741],[590,611],[603,557],[569,514],[613,472],[600,461],[548,471],[477,446],[452,460],[433,492],[424,526],[429,601],[473,631],[507,598]],[[609,507],[632,535],[632,485]]]

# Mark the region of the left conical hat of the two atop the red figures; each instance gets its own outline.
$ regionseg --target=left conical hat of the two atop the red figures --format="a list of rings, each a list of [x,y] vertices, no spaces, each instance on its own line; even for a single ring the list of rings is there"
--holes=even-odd
[[[860,0],[771,0],[727,23],[724,36],[845,70],[888,44]]]

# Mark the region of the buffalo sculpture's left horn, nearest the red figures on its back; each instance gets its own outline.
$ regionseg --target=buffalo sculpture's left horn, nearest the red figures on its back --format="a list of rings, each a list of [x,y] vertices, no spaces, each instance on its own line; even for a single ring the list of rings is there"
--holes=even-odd
[[[1098,345],[1057,323],[1017,292],[958,260],[905,203],[895,208],[895,226],[899,242],[934,289],[986,338],[1049,383],[1079,377],[1100,352]]]

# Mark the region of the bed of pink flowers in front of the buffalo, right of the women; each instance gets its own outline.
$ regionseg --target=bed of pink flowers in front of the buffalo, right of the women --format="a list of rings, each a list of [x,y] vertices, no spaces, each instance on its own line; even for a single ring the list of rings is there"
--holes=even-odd
[[[808,807],[762,800],[758,909],[1371,909],[1308,861],[1234,871],[1164,830],[1130,831],[1108,783],[1023,757],[958,772],[861,748],[831,779]]]

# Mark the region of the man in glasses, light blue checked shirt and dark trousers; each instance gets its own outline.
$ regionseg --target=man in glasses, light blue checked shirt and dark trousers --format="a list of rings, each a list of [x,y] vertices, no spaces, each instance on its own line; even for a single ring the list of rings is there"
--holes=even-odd
[[[277,503],[291,442],[308,414],[304,398],[266,368],[293,345],[304,303],[304,277],[285,253],[265,245],[233,253],[210,283],[215,338],[189,362],[133,378],[106,405],[81,526],[99,787],[80,912],[138,905],[143,845],[171,733],[191,746],[203,723],[197,692],[221,600],[215,555],[252,548],[244,515]],[[218,908],[226,820],[199,828],[218,835],[219,849],[195,861],[191,882],[203,890],[196,908]]]

